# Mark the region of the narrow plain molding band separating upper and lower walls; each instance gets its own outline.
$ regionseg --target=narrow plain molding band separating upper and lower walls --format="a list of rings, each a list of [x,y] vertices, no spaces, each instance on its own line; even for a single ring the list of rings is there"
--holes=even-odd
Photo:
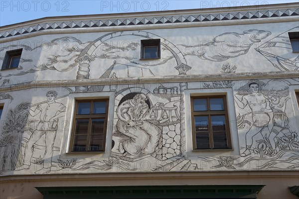
[[[32,81],[20,84],[0,87],[0,92],[18,91],[30,88],[44,87],[77,87],[97,85],[124,85],[124,84],[156,84],[177,82],[210,82],[210,81],[234,81],[251,79],[282,79],[299,78],[299,71],[257,72],[238,74],[215,74],[215,75],[179,75],[161,77],[137,77],[137,78],[109,78],[88,80],[55,80],[55,81]]]

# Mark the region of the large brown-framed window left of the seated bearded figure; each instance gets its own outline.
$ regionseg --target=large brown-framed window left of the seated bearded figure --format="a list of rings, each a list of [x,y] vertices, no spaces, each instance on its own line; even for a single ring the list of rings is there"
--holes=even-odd
[[[72,151],[105,151],[109,100],[77,100]]]

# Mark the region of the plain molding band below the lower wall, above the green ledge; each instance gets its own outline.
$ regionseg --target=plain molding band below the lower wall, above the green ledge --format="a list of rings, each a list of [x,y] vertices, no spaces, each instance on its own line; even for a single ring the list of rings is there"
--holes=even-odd
[[[270,178],[289,178],[294,179],[297,178],[298,171],[218,171],[218,172],[129,172],[129,173],[85,173],[85,174],[47,174],[47,175],[11,175],[11,176],[1,176],[1,183],[10,183],[14,182],[22,182],[22,181],[31,181],[31,182],[55,182],[55,183],[65,183],[66,181],[74,181],[76,178],[77,181],[111,181],[116,186],[116,182],[120,181],[128,181],[128,180],[150,180],[153,183],[156,183],[156,180],[168,180],[171,177],[173,180],[190,180],[190,179],[264,179]],[[61,181],[57,182],[57,179],[61,179]],[[76,182],[77,182],[76,181]],[[76,183],[75,182],[75,183]],[[56,184],[56,186],[59,186]],[[154,184],[156,185],[156,184]],[[133,185],[132,185],[133,186]]]

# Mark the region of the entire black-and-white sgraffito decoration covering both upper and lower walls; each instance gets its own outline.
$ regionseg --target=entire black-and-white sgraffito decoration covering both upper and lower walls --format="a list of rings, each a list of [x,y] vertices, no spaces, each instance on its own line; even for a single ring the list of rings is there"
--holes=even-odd
[[[298,27],[289,30],[296,31]],[[248,28],[216,34],[205,43],[186,44],[150,31],[112,32],[92,41],[59,37],[36,48],[23,45],[20,66],[1,71],[1,86],[7,87],[15,78],[26,79],[29,75],[50,80],[50,76],[43,75],[47,72],[57,74],[58,79],[67,75],[68,79],[76,80],[161,74],[184,76],[197,74],[193,71],[199,70],[202,61],[216,66],[217,74],[233,76],[244,68],[245,64],[236,60],[242,60],[245,55],[257,55],[257,59],[264,60],[275,70],[296,71],[298,54],[292,53],[287,32],[274,34]],[[130,42],[126,45],[115,44],[128,38]],[[160,39],[163,56],[157,60],[141,60],[140,40],[152,38]],[[243,41],[243,45],[235,42],[235,51],[208,50],[211,46],[226,45],[224,41],[228,40]],[[57,51],[57,46],[65,43],[64,50]],[[2,54],[11,47],[16,46],[0,49],[1,62]],[[45,47],[49,50],[42,51]],[[276,53],[280,50],[284,56]],[[38,56],[30,58],[32,53]],[[41,56],[44,59],[40,59]],[[9,99],[10,103],[5,118],[1,117],[0,174],[299,169],[299,127],[295,114],[298,107],[291,103],[295,100],[291,98],[295,92],[291,87],[298,85],[298,78],[289,78],[200,84],[70,85],[1,93],[0,100]],[[184,97],[190,88],[232,90],[237,133],[231,136],[237,137],[240,154],[206,156],[196,152],[196,155],[187,155],[186,139],[191,132],[186,131],[186,126],[191,126],[191,121],[186,119],[190,110],[185,106],[190,101],[185,101]],[[72,120],[72,115],[66,114],[68,97],[72,93],[95,92],[115,94],[114,107],[109,107],[114,112],[111,154],[102,158],[74,158],[61,147],[69,144],[62,142],[63,135],[69,134],[71,128],[67,121]],[[28,93],[30,95],[26,95]]]

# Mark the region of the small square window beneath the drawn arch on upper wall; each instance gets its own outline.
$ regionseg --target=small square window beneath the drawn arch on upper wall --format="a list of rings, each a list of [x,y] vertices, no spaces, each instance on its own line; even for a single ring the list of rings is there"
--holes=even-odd
[[[141,59],[160,58],[160,39],[141,40]]]

